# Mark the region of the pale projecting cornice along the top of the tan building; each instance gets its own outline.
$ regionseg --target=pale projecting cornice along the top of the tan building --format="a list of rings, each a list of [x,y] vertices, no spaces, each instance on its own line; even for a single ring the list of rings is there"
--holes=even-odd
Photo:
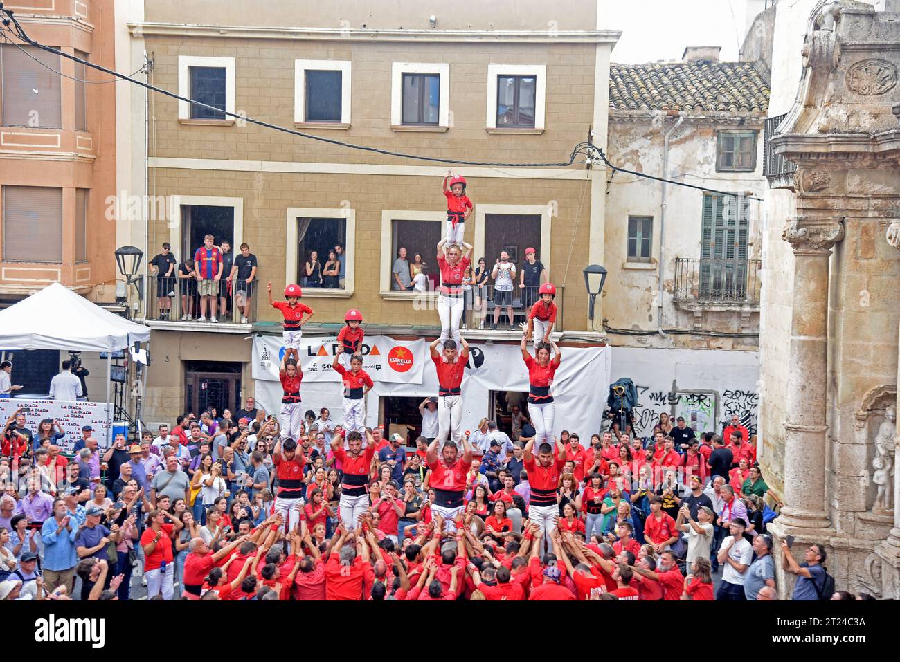
[[[191,25],[186,23],[128,23],[132,37],[221,37],[229,39],[290,40],[380,40],[380,41],[474,41],[524,43],[608,43],[617,42],[614,30],[370,30],[365,28],[303,28],[243,25]]]

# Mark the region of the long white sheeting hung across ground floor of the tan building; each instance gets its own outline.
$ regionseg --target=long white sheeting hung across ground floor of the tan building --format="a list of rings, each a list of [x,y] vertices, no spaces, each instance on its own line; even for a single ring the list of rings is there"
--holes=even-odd
[[[257,404],[264,407],[267,412],[277,413],[281,408],[282,389],[277,381],[277,364],[280,359],[278,350],[281,346],[281,338],[266,336],[268,343],[259,342],[257,338],[253,346],[253,377],[256,379]],[[305,340],[305,339],[304,339]],[[331,338],[326,339],[332,342]],[[310,344],[315,344],[315,352],[318,353],[322,339],[310,339]],[[385,342],[386,341],[386,342]],[[428,341],[418,340],[414,343],[394,341],[386,336],[366,338],[366,342],[372,342],[381,350],[382,346],[412,346],[420,343],[422,347],[421,358],[415,354],[414,366],[419,366],[419,380],[401,380],[394,377],[392,380],[377,380],[373,375],[375,387],[366,396],[365,425],[372,427],[379,421],[379,398],[428,398],[437,396],[437,374],[428,355]],[[390,343],[390,344],[389,344]],[[328,346],[328,344],[326,344]],[[266,349],[269,355],[267,362],[274,363],[266,370],[260,370],[262,366],[262,353]],[[530,349],[530,345],[529,345]],[[553,394],[556,401],[556,416],[554,433],[559,434],[564,428],[581,435],[584,443],[590,439],[590,434],[598,432],[603,419],[603,406],[606,403],[609,389],[609,348],[604,346],[587,347],[563,347],[563,362],[554,380]],[[325,357],[322,357],[323,360]],[[304,351],[301,350],[301,359],[304,371],[308,362],[304,361]],[[366,360],[366,366],[370,362]],[[330,359],[329,359],[330,363]],[[366,371],[369,368],[366,367]],[[410,369],[410,372],[412,370]],[[311,374],[316,377],[310,379]],[[343,420],[343,398],[341,389],[337,383],[337,374],[334,371],[326,371],[329,377],[322,377],[323,373],[305,373],[301,387],[301,395],[305,407],[310,408],[317,415],[320,407],[328,407],[332,419]],[[521,350],[518,344],[470,344],[470,356],[468,366],[463,379],[463,429],[473,430],[482,417],[495,417],[490,410],[490,396],[492,390],[527,392],[528,374],[525,362],[522,361]],[[419,425],[420,420],[405,421],[409,425]]]

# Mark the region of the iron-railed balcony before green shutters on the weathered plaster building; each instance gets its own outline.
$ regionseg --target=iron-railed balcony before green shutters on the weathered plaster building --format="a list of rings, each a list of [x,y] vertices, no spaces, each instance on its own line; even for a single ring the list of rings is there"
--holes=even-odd
[[[759,309],[761,260],[675,258],[672,299],[682,309]]]

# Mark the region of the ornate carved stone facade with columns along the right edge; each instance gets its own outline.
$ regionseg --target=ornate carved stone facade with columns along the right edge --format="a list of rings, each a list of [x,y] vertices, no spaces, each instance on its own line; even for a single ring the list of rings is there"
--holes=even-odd
[[[779,31],[801,10],[802,44]],[[823,543],[839,588],[896,599],[900,13],[779,3],[775,38],[773,63],[802,60],[796,99],[779,108],[773,77],[770,108],[787,159],[763,234],[761,464],[786,504],[770,529]]]

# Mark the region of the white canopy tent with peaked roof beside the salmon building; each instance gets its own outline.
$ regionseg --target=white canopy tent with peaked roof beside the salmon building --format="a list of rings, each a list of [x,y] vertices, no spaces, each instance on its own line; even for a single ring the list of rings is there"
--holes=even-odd
[[[48,322],[49,318],[55,321]],[[112,352],[149,339],[148,327],[103,309],[58,282],[0,310],[0,349],[106,352],[106,402]]]

